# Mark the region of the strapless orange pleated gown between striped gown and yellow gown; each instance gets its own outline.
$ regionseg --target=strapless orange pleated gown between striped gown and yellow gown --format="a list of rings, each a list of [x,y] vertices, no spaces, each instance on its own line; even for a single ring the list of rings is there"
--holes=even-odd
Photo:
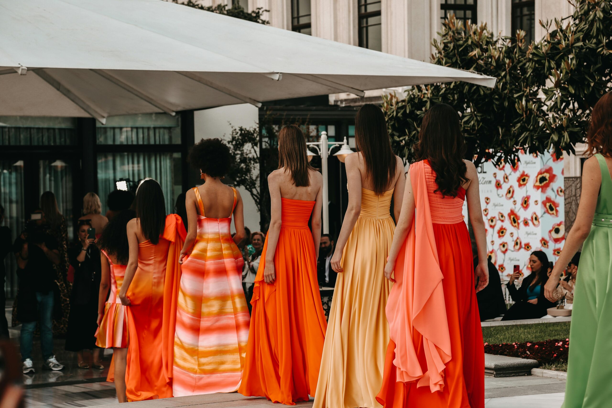
[[[264,282],[266,238],[251,300],[247,355],[238,388],[242,395],[295,405],[315,394],[327,321],[308,229],[314,206],[314,201],[282,198],[272,284]]]

